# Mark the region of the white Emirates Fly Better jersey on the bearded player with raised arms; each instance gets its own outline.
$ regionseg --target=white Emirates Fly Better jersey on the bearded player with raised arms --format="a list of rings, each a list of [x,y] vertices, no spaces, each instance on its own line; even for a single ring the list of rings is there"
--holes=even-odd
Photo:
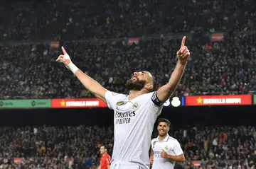
[[[128,100],[128,95],[107,91],[107,105],[114,110],[114,149],[112,163],[137,163],[149,168],[149,148],[156,118],[163,104],[156,92]]]

